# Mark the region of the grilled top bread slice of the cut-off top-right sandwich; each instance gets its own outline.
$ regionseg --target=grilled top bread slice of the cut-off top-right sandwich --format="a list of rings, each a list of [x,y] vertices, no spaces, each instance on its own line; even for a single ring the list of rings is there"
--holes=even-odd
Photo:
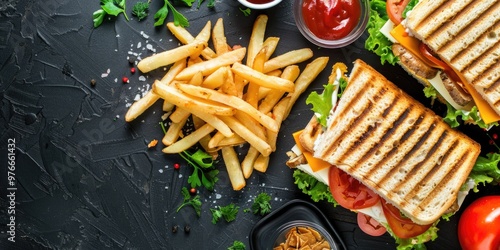
[[[500,114],[500,1],[423,0],[406,26]]]

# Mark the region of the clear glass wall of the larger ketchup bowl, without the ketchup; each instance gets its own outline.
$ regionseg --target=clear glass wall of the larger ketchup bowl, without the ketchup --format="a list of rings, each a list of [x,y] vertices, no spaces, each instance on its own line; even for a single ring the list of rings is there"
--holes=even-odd
[[[363,34],[370,18],[369,0],[355,0],[359,1],[359,5],[361,7],[361,15],[354,29],[349,34],[347,34],[347,36],[344,36],[342,38],[333,40],[322,39],[313,34],[313,32],[308,28],[306,22],[304,21],[302,14],[302,3],[304,2],[304,0],[293,1],[293,14],[295,17],[295,23],[300,33],[302,33],[302,35],[313,44],[323,48],[341,48],[353,43]]]

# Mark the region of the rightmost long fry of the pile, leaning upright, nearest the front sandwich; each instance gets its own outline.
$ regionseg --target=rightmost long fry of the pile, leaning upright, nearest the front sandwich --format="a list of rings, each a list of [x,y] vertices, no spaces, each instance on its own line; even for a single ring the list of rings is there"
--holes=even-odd
[[[299,98],[299,96],[304,93],[309,84],[316,79],[316,77],[321,73],[321,71],[326,67],[328,63],[328,57],[318,57],[314,59],[312,62],[306,65],[305,69],[299,75],[297,80],[295,80],[295,91],[293,93],[289,93],[290,102],[288,103],[287,111],[285,112],[285,119],[290,114],[290,110],[292,110],[293,105]]]

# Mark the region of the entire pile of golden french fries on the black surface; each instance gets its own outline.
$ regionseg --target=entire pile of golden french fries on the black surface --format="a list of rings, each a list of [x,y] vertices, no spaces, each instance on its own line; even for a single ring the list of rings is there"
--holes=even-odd
[[[130,106],[125,120],[134,120],[163,99],[171,121],[162,139],[163,152],[180,153],[198,143],[214,159],[221,152],[233,189],[242,189],[253,170],[267,170],[282,121],[328,63],[328,57],[319,57],[301,72],[298,64],[313,57],[309,48],[272,57],[279,37],[265,38],[267,21],[266,15],[257,17],[247,47],[227,43],[223,19],[213,29],[208,21],[196,37],[168,23],[183,45],[138,63],[143,73],[169,68]],[[195,130],[184,136],[190,117]],[[248,152],[240,162],[234,147],[245,143]]]

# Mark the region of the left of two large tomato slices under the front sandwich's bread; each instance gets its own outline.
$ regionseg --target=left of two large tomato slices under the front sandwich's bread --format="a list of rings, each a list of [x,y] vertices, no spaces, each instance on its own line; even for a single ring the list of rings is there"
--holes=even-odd
[[[333,198],[344,208],[371,207],[380,199],[375,192],[336,166],[330,167],[328,181]]]

